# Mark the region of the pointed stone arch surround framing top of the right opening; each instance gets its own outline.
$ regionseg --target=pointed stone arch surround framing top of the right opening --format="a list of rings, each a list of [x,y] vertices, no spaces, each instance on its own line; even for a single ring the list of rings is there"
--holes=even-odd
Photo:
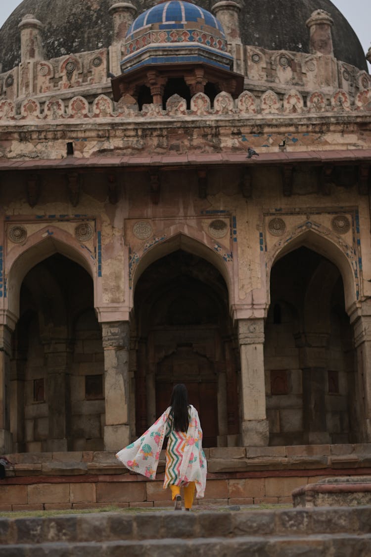
[[[289,232],[271,248],[266,260],[267,271],[267,296],[270,302],[270,274],[271,270],[281,257],[299,247],[307,247],[326,257],[339,269],[343,278],[345,309],[348,314],[359,298],[359,268],[358,256],[355,249],[340,241],[336,234],[328,229],[321,233],[313,227],[298,227]]]

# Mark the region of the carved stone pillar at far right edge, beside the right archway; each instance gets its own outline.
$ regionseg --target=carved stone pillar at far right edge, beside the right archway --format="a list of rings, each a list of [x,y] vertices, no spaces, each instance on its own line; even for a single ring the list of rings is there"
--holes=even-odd
[[[351,319],[352,321],[352,319]],[[357,350],[357,408],[360,442],[371,442],[371,316],[357,316],[353,321]]]

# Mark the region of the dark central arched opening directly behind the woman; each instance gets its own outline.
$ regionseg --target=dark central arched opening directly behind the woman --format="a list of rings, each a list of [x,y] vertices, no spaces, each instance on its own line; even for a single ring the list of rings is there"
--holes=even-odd
[[[200,413],[204,446],[238,443],[233,330],[224,279],[203,258],[178,250],[138,279],[135,299],[136,433],[185,383]]]

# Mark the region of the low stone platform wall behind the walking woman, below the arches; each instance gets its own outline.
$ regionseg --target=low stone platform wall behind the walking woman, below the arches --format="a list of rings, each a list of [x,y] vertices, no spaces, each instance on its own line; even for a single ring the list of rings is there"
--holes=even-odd
[[[230,447],[205,450],[205,499],[195,505],[292,503],[291,493],[324,478],[369,476],[371,444]],[[0,481],[0,510],[171,506],[155,481],[129,472],[113,452],[18,453]]]

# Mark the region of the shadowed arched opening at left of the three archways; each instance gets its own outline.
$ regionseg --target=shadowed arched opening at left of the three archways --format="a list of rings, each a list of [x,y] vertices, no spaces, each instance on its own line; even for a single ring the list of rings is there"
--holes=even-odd
[[[103,449],[103,349],[93,282],[60,253],[23,278],[11,366],[15,451]]]

